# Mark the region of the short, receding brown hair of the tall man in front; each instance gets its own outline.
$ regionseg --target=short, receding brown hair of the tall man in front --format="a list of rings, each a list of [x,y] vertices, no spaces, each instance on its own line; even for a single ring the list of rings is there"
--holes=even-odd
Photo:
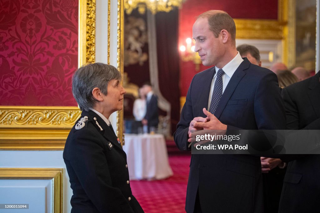
[[[218,38],[221,30],[227,30],[231,35],[232,43],[236,44],[236,24],[231,16],[222,10],[209,10],[206,11],[196,19],[207,18],[210,30],[213,32],[216,38]]]

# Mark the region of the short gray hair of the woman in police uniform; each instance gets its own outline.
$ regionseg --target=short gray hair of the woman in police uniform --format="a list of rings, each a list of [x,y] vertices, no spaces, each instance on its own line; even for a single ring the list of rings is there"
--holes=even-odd
[[[121,73],[112,65],[93,63],[77,69],[72,76],[72,94],[80,110],[89,111],[98,102],[92,95],[93,88],[107,95],[108,83],[113,79],[121,81]]]

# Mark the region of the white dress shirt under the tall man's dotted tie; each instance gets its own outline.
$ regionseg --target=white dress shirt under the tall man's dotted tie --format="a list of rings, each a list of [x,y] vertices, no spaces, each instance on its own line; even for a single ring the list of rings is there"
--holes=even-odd
[[[240,56],[240,53],[236,55],[231,61],[229,61],[228,64],[226,64],[224,67],[219,68],[215,66],[216,73],[213,76],[212,82],[211,82],[211,87],[210,87],[210,93],[209,93],[209,99],[208,99],[208,111],[210,109],[210,104],[211,104],[211,99],[212,99],[212,93],[213,93],[213,87],[214,87],[214,82],[216,81],[217,78],[217,73],[219,69],[222,69],[225,73],[222,75],[222,83],[223,83],[223,88],[222,88],[222,94],[224,93],[224,90],[226,89],[233,73],[236,72],[236,69],[238,66],[243,62],[244,60]]]

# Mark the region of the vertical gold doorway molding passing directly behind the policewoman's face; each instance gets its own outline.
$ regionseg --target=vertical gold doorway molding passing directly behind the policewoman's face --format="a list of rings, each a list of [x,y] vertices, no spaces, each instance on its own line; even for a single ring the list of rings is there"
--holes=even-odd
[[[121,72],[124,81],[124,0],[117,1],[117,69]],[[117,135],[120,137],[122,145],[124,145],[123,134],[123,110],[117,111]]]

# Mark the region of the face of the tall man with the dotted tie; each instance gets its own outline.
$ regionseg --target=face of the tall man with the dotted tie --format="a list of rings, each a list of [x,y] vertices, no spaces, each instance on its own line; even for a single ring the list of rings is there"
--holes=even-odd
[[[192,36],[196,41],[195,52],[199,53],[204,66],[216,65],[219,68],[219,62],[223,57],[223,43],[219,34],[216,38],[209,29],[208,19],[199,18],[192,27]]]

